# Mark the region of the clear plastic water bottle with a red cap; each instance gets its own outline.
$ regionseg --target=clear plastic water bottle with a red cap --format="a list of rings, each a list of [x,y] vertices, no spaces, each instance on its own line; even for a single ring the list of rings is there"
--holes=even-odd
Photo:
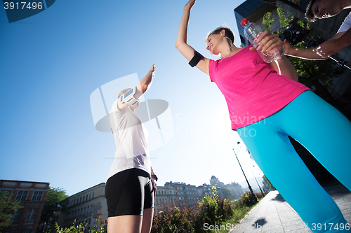
[[[258,24],[249,22],[246,18],[241,21],[241,26],[244,27],[244,34],[248,41],[253,45],[253,47],[257,48],[260,43],[257,42],[257,38],[260,34],[263,33],[262,29]],[[263,58],[263,60],[267,63],[272,62],[277,59],[280,55],[280,52],[277,48],[274,48],[270,51],[261,52],[259,50],[258,54]]]

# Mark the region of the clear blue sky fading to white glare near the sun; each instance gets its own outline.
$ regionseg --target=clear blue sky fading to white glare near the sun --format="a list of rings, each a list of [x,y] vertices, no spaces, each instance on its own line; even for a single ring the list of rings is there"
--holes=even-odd
[[[151,152],[158,185],[201,185],[213,175],[223,183],[244,181],[232,150],[240,139],[230,129],[223,95],[174,46],[186,2],[55,1],[13,23],[1,8],[0,178],[49,182],[67,195],[105,182],[114,140],[95,129],[90,95],[132,73],[143,78],[155,63],[145,99],[168,101],[174,129],[173,139]],[[204,38],[227,24],[239,46],[234,8],[242,2],[198,0],[188,43],[218,59],[207,52]],[[241,145],[239,160],[253,177]]]

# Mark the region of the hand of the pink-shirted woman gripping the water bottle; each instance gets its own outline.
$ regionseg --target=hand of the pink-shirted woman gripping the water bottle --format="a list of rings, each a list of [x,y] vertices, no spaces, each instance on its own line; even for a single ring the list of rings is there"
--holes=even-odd
[[[282,53],[283,41],[276,34],[271,34],[269,31],[263,31],[257,41],[260,45],[258,45],[256,50],[265,52],[270,51],[273,48],[278,48],[279,52]],[[250,50],[255,50],[255,48],[250,48]]]

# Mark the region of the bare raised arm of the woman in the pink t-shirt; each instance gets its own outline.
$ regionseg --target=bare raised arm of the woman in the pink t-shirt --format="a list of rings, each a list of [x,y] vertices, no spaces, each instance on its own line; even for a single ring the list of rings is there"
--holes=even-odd
[[[183,16],[180,20],[176,41],[176,48],[188,61],[194,57],[195,52],[194,48],[187,44],[187,24],[189,23],[190,10],[192,9],[192,6],[194,6],[194,3],[195,0],[190,0],[184,6]],[[208,74],[208,62],[209,59],[206,57],[201,59],[197,64],[197,68]]]

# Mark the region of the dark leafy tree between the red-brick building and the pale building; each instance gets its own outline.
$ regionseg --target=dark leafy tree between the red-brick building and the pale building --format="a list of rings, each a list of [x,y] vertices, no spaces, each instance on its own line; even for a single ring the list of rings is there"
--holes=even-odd
[[[41,212],[39,227],[37,232],[54,232],[55,223],[58,221],[60,211],[67,212],[69,197],[62,188],[49,188],[44,209]]]

